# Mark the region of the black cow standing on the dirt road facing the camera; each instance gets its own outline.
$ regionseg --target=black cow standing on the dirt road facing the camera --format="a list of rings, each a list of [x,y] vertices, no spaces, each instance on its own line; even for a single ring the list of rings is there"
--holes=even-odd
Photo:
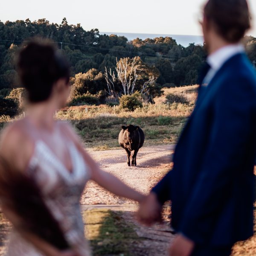
[[[139,126],[128,125],[122,126],[122,130],[119,133],[118,143],[125,149],[127,153],[128,166],[136,166],[136,156],[139,149],[143,146],[145,135]],[[130,157],[132,161],[130,162]]]

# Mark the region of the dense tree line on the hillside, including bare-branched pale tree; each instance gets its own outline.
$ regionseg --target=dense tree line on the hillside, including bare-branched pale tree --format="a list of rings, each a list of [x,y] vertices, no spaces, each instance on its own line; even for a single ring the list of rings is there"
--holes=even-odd
[[[157,96],[162,87],[196,84],[206,60],[205,46],[183,47],[170,37],[128,41],[124,36],[101,35],[98,29],[85,31],[80,24],[68,24],[66,18],[61,24],[46,19],[0,21],[0,89],[19,86],[15,54],[20,44],[34,36],[51,39],[66,55],[75,85],[73,96],[101,91],[105,96],[127,91]],[[256,38],[246,37],[244,43],[250,60],[256,60]]]

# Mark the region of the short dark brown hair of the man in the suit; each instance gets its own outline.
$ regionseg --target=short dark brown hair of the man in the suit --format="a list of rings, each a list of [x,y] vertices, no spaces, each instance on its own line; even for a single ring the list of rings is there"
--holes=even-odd
[[[246,0],[209,0],[204,15],[216,32],[230,43],[237,43],[250,29],[250,12]]]

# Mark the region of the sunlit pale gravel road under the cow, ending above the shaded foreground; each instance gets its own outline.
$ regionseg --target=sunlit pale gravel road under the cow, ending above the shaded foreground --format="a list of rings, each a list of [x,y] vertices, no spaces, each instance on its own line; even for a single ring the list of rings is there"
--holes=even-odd
[[[137,166],[128,167],[124,149],[89,151],[101,168],[134,189],[147,194],[150,189],[172,167],[174,145],[141,148],[137,155]],[[81,197],[81,204],[133,204],[133,201],[119,198],[105,191],[96,183],[89,182]]]

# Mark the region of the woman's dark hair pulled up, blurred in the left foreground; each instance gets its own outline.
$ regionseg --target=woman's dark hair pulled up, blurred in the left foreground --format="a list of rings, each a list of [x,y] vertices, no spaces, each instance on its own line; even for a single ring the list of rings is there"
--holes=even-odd
[[[50,41],[30,41],[17,58],[17,70],[30,102],[47,100],[53,84],[60,78],[70,79],[70,68]]]

